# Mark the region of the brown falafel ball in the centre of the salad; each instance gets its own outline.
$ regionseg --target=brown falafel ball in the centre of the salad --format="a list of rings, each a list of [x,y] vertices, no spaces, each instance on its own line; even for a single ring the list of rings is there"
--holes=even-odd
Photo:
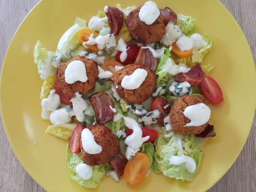
[[[131,75],[137,68],[143,68],[148,72],[146,79],[137,89],[124,89],[121,86],[122,79],[124,76]],[[139,104],[147,100],[156,89],[156,74],[142,65],[130,64],[121,68],[116,76],[113,78],[114,87],[121,98],[126,102]]]

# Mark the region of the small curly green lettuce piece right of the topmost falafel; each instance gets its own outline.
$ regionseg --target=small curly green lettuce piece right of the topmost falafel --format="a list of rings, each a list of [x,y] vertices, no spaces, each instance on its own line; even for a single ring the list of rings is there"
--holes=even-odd
[[[196,19],[190,16],[185,16],[178,14],[177,16],[177,25],[180,27],[180,30],[184,35],[192,35],[195,33],[195,24]]]

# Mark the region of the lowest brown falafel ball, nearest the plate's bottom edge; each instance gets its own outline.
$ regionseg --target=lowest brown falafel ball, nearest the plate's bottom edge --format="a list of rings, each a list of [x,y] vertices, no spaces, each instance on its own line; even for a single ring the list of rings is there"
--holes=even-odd
[[[87,127],[91,130],[95,142],[102,147],[102,151],[98,154],[89,154],[83,150],[81,140],[81,156],[83,161],[91,166],[109,162],[115,155],[120,153],[120,143],[117,137],[112,133],[111,129],[103,125],[93,125]]]

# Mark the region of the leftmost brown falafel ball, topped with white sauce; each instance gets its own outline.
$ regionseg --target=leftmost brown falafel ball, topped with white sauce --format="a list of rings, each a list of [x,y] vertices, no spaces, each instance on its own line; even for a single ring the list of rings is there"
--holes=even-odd
[[[75,60],[79,60],[84,63],[88,79],[86,82],[76,81],[72,84],[69,84],[65,81],[65,70],[69,63]],[[56,82],[62,92],[70,98],[74,97],[76,92],[79,92],[80,94],[86,94],[90,90],[94,89],[96,81],[98,81],[98,67],[95,61],[86,59],[79,55],[75,56],[67,63],[61,63],[56,70]]]

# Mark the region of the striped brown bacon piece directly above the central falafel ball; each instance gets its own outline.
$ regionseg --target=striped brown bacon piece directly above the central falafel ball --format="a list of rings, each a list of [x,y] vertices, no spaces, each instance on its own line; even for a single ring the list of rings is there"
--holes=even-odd
[[[149,69],[155,71],[156,65],[157,65],[157,59],[156,59],[156,57],[153,57],[153,55],[149,49],[141,48],[139,50],[139,54],[137,55],[137,58],[136,58],[134,64],[142,65],[146,68],[149,68]]]

